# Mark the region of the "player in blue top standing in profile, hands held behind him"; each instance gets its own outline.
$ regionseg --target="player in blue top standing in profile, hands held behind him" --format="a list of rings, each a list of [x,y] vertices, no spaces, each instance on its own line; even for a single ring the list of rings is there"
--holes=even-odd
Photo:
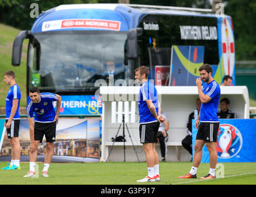
[[[148,81],[148,68],[140,66],[135,70],[135,79],[142,84],[139,92],[140,143],[145,151],[148,175],[137,182],[160,181],[159,159],[155,149],[156,137],[160,123],[166,119],[161,116],[161,106],[156,88]]]

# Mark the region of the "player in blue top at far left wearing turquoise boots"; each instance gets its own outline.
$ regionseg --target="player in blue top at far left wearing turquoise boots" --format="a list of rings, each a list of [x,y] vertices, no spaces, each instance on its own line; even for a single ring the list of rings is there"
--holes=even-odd
[[[6,123],[4,123],[4,126],[7,130],[7,137],[10,139],[12,159],[11,163],[2,169],[20,169],[20,88],[15,82],[14,71],[4,73],[4,82],[11,86],[6,97]]]

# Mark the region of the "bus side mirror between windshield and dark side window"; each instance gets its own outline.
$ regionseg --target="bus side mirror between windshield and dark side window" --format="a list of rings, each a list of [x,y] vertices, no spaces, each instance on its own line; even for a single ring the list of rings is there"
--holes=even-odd
[[[142,28],[130,29],[127,34],[127,58],[135,59],[138,57],[138,41],[137,37],[142,35]]]

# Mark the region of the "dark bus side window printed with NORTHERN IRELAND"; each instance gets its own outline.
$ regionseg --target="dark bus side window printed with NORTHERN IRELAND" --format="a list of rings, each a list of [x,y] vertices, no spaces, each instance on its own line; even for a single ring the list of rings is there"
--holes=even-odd
[[[218,65],[218,34],[217,20],[214,17],[198,17],[186,15],[146,15],[139,27],[143,28],[143,35],[139,36],[139,65],[146,65],[154,70],[156,65],[171,63],[172,46],[204,46],[204,63]],[[194,34],[186,34],[187,28],[195,28]],[[202,34],[197,28],[210,28],[214,34]],[[184,30],[185,29],[185,30]],[[185,34],[182,34],[184,33]],[[204,30],[204,29],[203,29]],[[207,37],[208,36],[208,37]]]

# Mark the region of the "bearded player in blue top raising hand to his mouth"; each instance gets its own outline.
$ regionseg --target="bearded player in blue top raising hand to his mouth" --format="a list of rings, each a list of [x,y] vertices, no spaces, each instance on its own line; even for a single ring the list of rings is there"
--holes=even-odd
[[[207,145],[210,157],[210,171],[205,177],[200,179],[214,179],[215,169],[218,160],[216,152],[216,140],[220,122],[217,116],[218,104],[220,99],[220,86],[213,79],[213,68],[207,63],[199,68],[200,75],[203,82],[206,82],[202,88],[201,78],[197,78],[196,84],[198,87],[198,94],[201,101],[200,112],[195,121],[195,128],[198,129],[197,137],[195,140],[195,153],[193,159],[193,166],[189,174],[184,175],[182,179],[196,178],[197,169],[202,159],[203,146]],[[200,122],[200,124],[199,124]]]

